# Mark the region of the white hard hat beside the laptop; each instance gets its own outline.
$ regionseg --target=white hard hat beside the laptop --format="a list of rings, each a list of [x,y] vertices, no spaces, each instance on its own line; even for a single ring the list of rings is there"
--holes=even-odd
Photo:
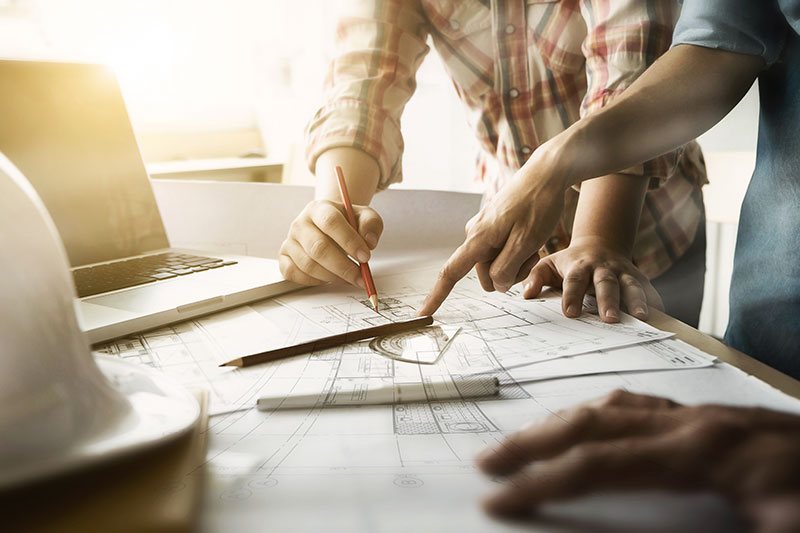
[[[194,397],[160,373],[93,356],[56,228],[0,154],[0,488],[175,438]]]

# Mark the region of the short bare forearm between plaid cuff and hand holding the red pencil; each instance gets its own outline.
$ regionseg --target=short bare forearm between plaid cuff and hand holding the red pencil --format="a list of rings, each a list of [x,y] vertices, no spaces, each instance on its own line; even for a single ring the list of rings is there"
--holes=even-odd
[[[378,189],[380,169],[375,159],[356,148],[332,148],[319,156],[314,169],[316,198],[342,200],[336,179],[337,165],[342,167],[350,200],[356,205],[369,205]]]

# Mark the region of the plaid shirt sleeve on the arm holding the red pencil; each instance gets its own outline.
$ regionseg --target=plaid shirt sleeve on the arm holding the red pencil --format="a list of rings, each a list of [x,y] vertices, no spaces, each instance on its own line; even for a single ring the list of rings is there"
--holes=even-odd
[[[400,116],[416,89],[416,72],[429,50],[428,31],[417,2],[345,3],[325,101],[306,132],[312,172],[326,150],[353,147],[377,161],[379,188],[401,181]]]

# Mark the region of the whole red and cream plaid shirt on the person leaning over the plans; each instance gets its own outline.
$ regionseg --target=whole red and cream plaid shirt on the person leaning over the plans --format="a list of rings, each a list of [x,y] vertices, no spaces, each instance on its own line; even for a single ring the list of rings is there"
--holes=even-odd
[[[356,147],[380,187],[402,178],[400,116],[436,50],[477,135],[478,177],[491,196],[537,146],[620,95],[672,40],[673,0],[351,0],[339,21],[326,101],[308,127],[308,162]],[[624,171],[650,178],[634,262],[650,278],[692,243],[706,183],[696,143]],[[546,245],[569,244],[579,191]]]

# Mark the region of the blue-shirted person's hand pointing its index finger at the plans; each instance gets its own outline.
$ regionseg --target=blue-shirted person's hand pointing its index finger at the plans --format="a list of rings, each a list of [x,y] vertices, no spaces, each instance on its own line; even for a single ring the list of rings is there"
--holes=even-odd
[[[476,267],[484,290],[506,292],[525,279],[564,210],[566,187],[533,158],[469,221],[466,239],[439,271],[421,316],[433,314],[455,284]]]

